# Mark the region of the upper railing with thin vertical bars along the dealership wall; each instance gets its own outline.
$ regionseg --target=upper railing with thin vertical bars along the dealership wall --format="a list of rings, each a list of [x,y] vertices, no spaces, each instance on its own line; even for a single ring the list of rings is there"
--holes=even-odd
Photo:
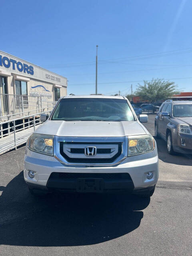
[[[40,96],[0,94],[0,122],[52,110],[55,103]]]

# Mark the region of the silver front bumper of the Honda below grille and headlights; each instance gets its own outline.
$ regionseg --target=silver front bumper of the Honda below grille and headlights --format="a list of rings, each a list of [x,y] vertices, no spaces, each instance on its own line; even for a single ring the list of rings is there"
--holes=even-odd
[[[38,180],[35,181],[28,176],[28,170],[38,173]],[[153,178],[148,180],[146,174],[153,173]],[[52,179],[52,173],[56,176]],[[141,154],[138,156],[127,157],[117,166],[104,167],[83,167],[83,166],[64,166],[53,156],[39,154],[26,149],[24,158],[24,179],[30,188],[38,188],[44,190],[62,189],[77,190],[77,179],[65,180],[57,176],[57,173],[64,174],[92,174],[92,178],[96,179],[100,174],[128,174],[130,178],[121,179],[103,179],[104,190],[138,190],[143,188],[151,188],[158,181],[158,154],[157,148],[152,152]],[[51,175],[52,174],[52,175]],[[54,174],[55,175],[55,174]],[[86,177],[86,176],[85,176]],[[100,177],[99,177],[100,178]]]

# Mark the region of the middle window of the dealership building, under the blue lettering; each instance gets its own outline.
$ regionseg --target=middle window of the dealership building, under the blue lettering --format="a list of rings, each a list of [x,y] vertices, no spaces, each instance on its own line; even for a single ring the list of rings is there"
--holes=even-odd
[[[18,108],[28,107],[27,82],[15,80],[16,106]]]

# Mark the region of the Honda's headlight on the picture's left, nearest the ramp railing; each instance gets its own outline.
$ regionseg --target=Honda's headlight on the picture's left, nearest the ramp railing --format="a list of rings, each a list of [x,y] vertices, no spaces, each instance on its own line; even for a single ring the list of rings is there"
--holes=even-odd
[[[53,135],[32,134],[28,139],[28,148],[38,153],[53,155]]]

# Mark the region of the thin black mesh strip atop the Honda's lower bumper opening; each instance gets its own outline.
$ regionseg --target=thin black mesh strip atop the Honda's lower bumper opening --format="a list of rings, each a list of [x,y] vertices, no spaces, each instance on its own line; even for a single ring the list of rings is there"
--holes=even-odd
[[[131,180],[128,173],[74,173],[74,172],[52,172],[50,178],[77,179],[77,178],[102,178],[104,180]]]

